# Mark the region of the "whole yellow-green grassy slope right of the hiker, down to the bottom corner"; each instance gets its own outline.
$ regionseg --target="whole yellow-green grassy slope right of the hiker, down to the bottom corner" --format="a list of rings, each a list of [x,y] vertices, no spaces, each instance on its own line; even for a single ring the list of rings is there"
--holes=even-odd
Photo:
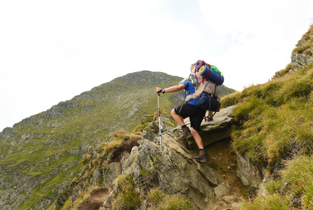
[[[302,39],[312,34],[313,26]],[[310,53],[312,38],[305,45],[294,52]],[[313,208],[313,66],[289,70],[290,65],[277,73],[280,78],[222,100],[223,106],[237,104],[234,149],[267,165],[274,177],[267,183],[267,196],[239,209]]]

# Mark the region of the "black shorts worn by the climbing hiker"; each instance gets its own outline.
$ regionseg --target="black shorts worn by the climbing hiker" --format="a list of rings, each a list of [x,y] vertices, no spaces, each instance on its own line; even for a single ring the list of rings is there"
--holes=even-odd
[[[192,104],[181,104],[180,106],[177,106],[174,111],[182,116],[183,119],[189,117],[190,126],[199,132],[202,120],[204,120],[204,116],[206,115],[205,109]]]

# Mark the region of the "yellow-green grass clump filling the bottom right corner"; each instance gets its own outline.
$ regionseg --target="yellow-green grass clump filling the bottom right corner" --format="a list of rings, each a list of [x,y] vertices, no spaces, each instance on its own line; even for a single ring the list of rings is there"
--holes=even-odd
[[[312,155],[296,156],[293,160],[286,161],[284,165],[280,179],[266,184],[268,192],[266,196],[242,202],[237,209],[312,209]]]

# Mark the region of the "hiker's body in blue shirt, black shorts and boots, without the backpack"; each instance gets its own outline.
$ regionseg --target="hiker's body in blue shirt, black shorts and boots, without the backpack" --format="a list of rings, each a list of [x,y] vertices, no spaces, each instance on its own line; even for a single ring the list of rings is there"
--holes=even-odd
[[[166,89],[161,89],[160,87],[156,87],[156,92],[162,92],[163,94],[168,92],[178,92],[179,90],[186,90],[190,94],[194,93],[194,86],[192,85],[191,80],[185,80],[180,83],[180,85],[175,85],[172,87],[168,87]],[[187,93],[186,93],[187,94]],[[194,137],[194,141],[199,148],[199,155],[194,157],[194,160],[199,162],[207,162],[206,151],[204,150],[204,143],[199,135],[199,129],[202,120],[206,114],[206,110],[202,109],[200,106],[196,104],[196,99],[192,99],[185,104],[180,104],[175,109],[171,111],[171,114],[174,120],[182,127],[182,135],[178,137],[178,140],[187,139],[189,137]],[[191,130],[185,125],[183,119],[189,117]]]

